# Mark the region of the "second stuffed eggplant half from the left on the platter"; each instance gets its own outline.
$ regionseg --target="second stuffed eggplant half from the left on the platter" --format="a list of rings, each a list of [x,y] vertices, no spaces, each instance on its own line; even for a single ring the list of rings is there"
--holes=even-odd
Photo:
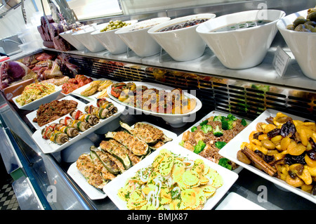
[[[92,159],[100,159],[100,162],[102,162],[105,169],[110,173],[117,175],[121,172],[117,164],[110,159],[109,154],[98,150],[96,146],[93,145],[90,147],[90,155]]]

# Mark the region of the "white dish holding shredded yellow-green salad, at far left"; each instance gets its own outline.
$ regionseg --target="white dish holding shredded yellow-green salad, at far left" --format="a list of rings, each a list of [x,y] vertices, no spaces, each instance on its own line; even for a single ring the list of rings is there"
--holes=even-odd
[[[49,84],[49,85],[53,85],[53,84]],[[55,86],[55,85],[53,85]],[[51,102],[52,100],[55,100],[58,95],[60,94],[60,92],[62,91],[61,86],[55,86],[55,92],[49,94],[49,95],[45,95],[43,98],[39,98],[37,100],[32,101],[31,103],[27,103],[26,105],[21,106],[16,99],[20,96],[17,95],[15,96],[12,100],[15,103],[15,105],[20,109],[20,110],[36,110],[40,105],[44,104],[44,103],[48,103]]]

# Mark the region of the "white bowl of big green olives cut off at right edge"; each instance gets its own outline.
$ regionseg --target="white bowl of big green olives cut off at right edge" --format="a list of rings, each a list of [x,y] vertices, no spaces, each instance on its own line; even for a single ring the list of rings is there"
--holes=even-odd
[[[298,16],[306,18],[306,15],[307,9],[287,15],[277,22],[277,28],[301,67],[303,74],[310,79],[316,79],[316,34],[297,32],[286,28]]]

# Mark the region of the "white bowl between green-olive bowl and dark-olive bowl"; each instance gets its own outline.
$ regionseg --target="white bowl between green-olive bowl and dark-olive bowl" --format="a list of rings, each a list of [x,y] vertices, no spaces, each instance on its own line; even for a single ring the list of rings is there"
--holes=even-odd
[[[153,18],[136,22],[115,32],[139,57],[149,57],[160,52],[160,46],[147,33],[153,25],[170,20],[169,17]],[[143,28],[142,28],[143,27]]]

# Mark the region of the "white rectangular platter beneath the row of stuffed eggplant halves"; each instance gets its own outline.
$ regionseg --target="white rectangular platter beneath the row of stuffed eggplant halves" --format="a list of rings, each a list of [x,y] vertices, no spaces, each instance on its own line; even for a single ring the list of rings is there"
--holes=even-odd
[[[142,121],[143,123],[146,124],[150,124],[147,122]],[[155,126],[154,124],[150,124],[152,126]],[[134,126],[134,125],[133,125]],[[131,126],[133,128],[133,126]],[[162,129],[159,126],[155,126],[157,129],[160,129],[164,132],[164,134],[169,137],[172,138],[173,140],[176,138],[176,133],[173,133],[171,131],[168,131],[166,129]],[[169,143],[172,143],[169,142]],[[162,145],[162,147],[165,147],[167,144]],[[140,161],[141,163],[142,161]],[[90,197],[92,200],[96,200],[96,199],[103,199],[105,197],[107,197],[107,195],[105,194],[105,192],[100,191],[98,189],[96,189],[96,187],[91,186],[90,184],[88,184],[88,182],[86,181],[86,179],[84,178],[84,176],[82,176],[82,174],[80,173],[80,171],[77,169],[76,166],[77,162],[74,162],[70,168],[67,170],[67,173],[70,175],[70,177],[77,183],[77,185],[79,185],[79,187],[81,187],[81,189],[86,193],[86,195],[88,195],[88,197]]]

